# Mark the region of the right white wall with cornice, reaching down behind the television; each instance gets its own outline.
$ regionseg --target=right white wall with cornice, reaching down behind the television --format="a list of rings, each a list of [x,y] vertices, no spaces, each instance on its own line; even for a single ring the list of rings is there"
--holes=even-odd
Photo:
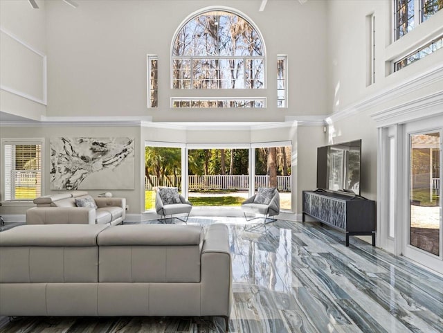
[[[377,129],[375,111],[395,109],[442,91],[442,80],[424,80],[443,64],[443,50],[392,73],[391,60],[406,55],[428,38],[443,33],[443,11],[397,41],[392,40],[392,1],[328,1],[327,142],[362,139],[361,194],[377,198]],[[366,87],[365,16],[374,13],[375,83]],[[352,27],[352,28],[350,28]],[[417,84],[413,84],[417,80]],[[412,83],[411,83],[412,82]],[[409,85],[408,85],[409,84]]]

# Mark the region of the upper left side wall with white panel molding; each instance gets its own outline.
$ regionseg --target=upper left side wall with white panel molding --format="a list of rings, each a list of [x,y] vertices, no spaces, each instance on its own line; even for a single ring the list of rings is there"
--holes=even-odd
[[[34,120],[46,114],[46,11],[37,3],[0,1],[0,111]]]

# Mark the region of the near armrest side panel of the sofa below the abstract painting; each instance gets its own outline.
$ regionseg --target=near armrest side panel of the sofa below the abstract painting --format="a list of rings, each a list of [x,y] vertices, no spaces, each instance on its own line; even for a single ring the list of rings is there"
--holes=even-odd
[[[34,207],[26,210],[26,224],[96,224],[96,209]]]

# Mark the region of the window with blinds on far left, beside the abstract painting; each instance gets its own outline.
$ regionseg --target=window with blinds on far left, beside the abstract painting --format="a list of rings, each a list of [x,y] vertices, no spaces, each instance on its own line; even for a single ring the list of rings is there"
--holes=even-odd
[[[42,141],[3,141],[4,200],[32,200],[42,194]]]

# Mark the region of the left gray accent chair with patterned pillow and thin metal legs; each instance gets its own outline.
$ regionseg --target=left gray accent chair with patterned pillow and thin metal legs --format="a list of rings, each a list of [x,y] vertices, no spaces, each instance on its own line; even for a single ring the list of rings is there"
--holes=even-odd
[[[192,204],[186,200],[183,195],[180,195],[177,188],[158,188],[155,197],[155,210],[157,214],[162,216],[163,223],[166,223],[166,216],[177,214],[186,214],[186,217],[181,219],[175,217],[182,222],[188,224],[189,214],[192,210]]]

